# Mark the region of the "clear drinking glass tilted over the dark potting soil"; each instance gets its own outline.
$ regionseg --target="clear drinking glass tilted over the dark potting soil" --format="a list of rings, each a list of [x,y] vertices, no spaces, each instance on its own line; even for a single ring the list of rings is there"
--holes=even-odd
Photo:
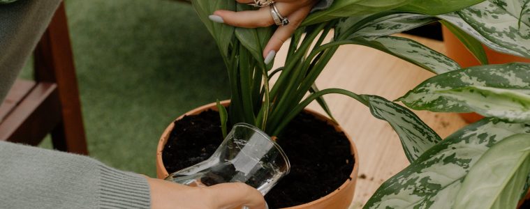
[[[284,150],[265,132],[237,123],[212,157],[171,173],[165,180],[189,186],[240,182],[265,195],[289,170]]]

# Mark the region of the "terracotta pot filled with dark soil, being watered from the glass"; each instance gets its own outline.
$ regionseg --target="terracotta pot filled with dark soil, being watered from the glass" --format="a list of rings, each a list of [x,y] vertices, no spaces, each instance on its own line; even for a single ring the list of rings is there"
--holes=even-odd
[[[230,101],[226,100],[221,102],[223,106],[228,106],[230,104]],[[196,109],[193,109],[186,114],[179,116],[175,121],[182,119],[184,116],[190,116],[190,115],[197,115],[200,114],[203,111],[207,111],[209,109],[213,109],[217,111],[216,103],[212,104],[206,104],[203,107],[198,107]],[[322,114],[318,114],[315,111],[311,111],[308,109],[304,110],[305,112],[309,114],[313,114],[321,121],[326,121],[328,124],[333,125],[335,127],[335,130],[337,132],[344,132],[340,125],[337,123],[332,122],[329,118],[323,116]],[[156,148],[156,176],[158,178],[165,178],[169,176],[168,171],[165,170],[165,167],[162,162],[162,151],[165,146],[165,143],[168,141],[168,137],[170,135],[171,130],[173,130],[173,127],[175,123],[171,123],[168,125],[168,127],[163,132],[160,141],[159,146]],[[344,132],[346,134],[346,132]],[[350,141],[351,144],[351,153],[353,153],[353,157],[355,160],[355,164],[353,165],[353,171],[350,173],[350,178],[346,180],[337,190],[334,192],[327,194],[326,196],[323,196],[321,199],[318,199],[316,201],[312,201],[310,203],[305,203],[300,206],[293,206],[288,209],[302,209],[302,208],[333,208],[333,209],[341,209],[341,208],[348,208],[350,206],[350,203],[353,199],[353,193],[355,192],[355,183],[357,181],[357,175],[359,171],[359,156],[357,153],[357,148],[355,148],[355,144],[353,144],[353,141],[351,140],[351,137],[346,134],[346,137]]]

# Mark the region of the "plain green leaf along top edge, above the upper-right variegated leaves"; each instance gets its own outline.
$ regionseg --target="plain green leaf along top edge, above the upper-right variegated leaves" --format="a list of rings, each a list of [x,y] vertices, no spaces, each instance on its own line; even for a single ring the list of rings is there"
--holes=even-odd
[[[441,15],[473,6],[484,0],[413,0],[396,10],[428,15]]]

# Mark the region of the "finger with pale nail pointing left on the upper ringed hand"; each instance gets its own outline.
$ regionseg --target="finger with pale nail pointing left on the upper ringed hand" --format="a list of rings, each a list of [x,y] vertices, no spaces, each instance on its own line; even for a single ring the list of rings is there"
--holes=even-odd
[[[288,17],[300,7],[294,3],[276,3],[276,8],[278,8],[278,11],[282,16]],[[274,24],[270,9],[269,6],[265,6],[259,10],[246,10],[240,12],[216,10],[214,15],[221,17],[223,23],[231,26],[258,28]],[[210,17],[210,19],[212,19],[212,17]]]

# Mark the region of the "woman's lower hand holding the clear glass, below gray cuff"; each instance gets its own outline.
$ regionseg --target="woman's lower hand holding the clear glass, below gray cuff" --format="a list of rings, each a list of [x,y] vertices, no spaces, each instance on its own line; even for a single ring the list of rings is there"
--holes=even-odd
[[[151,191],[152,209],[233,209],[242,206],[265,209],[263,195],[244,183],[188,187],[166,180],[146,178]]]

